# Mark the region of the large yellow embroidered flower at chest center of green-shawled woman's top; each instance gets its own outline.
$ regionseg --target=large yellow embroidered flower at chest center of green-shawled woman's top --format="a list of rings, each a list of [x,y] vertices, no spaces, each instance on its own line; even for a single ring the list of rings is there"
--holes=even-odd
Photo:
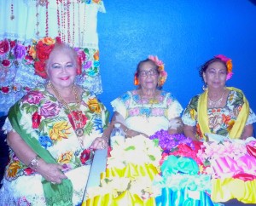
[[[51,140],[62,140],[67,139],[67,134],[70,134],[68,131],[71,126],[67,125],[67,122],[55,123],[52,129],[49,129],[49,137]]]

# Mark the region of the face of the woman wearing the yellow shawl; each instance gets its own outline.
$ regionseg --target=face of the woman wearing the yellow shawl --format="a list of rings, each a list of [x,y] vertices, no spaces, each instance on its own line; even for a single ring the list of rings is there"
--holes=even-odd
[[[203,77],[208,89],[222,89],[226,83],[227,69],[224,63],[215,61],[203,72]]]

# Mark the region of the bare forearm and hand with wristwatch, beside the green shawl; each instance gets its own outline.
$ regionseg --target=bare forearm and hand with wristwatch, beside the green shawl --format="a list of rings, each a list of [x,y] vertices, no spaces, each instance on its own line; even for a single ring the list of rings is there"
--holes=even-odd
[[[45,180],[61,183],[62,179],[67,179],[67,176],[61,172],[61,165],[54,163],[45,163],[41,157],[37,157],[37,153],[14,131],[7,134],[7,144],[15,152],[15,155],[22,163],[34,169],[38,174],[44,176]],[[32,161],[35,164],[32,164]]]

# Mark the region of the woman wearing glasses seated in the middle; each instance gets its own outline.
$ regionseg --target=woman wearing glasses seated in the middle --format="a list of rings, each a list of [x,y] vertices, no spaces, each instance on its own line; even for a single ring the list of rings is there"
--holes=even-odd
[[[166,76],[164,65],[156,56],[139,62],[134,76],[138,88],[111,102],[111,124],[121,123],[128,137],[148,137],[160,129],[169,130],[170,134],[181,132],[183,108],[172,94],[161,90]]]

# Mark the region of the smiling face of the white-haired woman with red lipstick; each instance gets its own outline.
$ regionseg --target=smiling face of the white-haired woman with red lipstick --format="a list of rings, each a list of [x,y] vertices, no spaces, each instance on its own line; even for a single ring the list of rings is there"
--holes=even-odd
[[[57,89],[73,85],[76,77],[76,64],[68,51],[55,51],[49,58],[47,73],[49,81]]]

